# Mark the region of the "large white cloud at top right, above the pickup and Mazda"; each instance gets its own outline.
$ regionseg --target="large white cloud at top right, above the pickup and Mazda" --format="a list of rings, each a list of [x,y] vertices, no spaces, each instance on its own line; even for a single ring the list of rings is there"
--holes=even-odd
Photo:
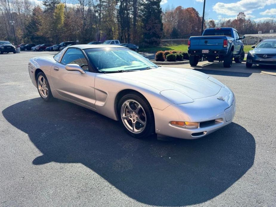
[[[236,16],[239,12],[246,15],[254,10],[263,9],[266,5],[276,4],[276,0],[240,0],[235,3],[218,2],[213,6],[213,10],[218,14]]]

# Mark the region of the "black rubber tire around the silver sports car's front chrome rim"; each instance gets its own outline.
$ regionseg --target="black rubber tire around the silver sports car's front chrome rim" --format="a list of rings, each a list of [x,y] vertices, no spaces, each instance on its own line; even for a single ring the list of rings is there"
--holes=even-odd
[[[144,112],[146,114],[146,116],[145,116],[146,117],[146,124],[145,124],[146,126],[145,126],[144,130],[139,133],[131,132],[130,129],[128,129],[127,126],[125,126],[125,124],[123,122],[123,118],[121,117],[121,110],[123,110],[122,109],[123,104],[127,100],[137,101],[142,106],[142,109],[144,109]],[[139,139],[147,138],[149,135],[155,133],[155,121],[154,121],[154,115],[153,115],[152,108],[151,108],[149,102],[141,94],[133,92],[133,93],[124,95],[118,103],[117,113],[118,113],[119,121],[120,121],[121,125],[123,126],[124,130],[132,137],[139,138]],[[129,115],[131,115],[130,112],[129,112]],[[138,115],[137,115],[137,117],[138,117]],[[132,123],[131,119],[129,119],[127,121],[130,121],[129,124]]]

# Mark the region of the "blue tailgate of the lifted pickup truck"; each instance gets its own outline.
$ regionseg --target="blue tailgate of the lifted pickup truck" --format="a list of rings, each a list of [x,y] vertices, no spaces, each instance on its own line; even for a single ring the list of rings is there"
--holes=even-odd
[[[221,50],[223,49],[223,40],[226,39],[224,36],[201,36],[191,37],[190,49],[212,49]]]

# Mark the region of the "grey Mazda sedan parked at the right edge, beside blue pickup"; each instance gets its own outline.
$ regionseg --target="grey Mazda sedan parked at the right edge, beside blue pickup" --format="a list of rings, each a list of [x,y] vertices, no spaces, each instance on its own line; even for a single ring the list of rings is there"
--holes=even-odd
[[[246,67],[256,65],[276,65],[276,39],[261,41],[254,50],[250,50],[246,58]]]

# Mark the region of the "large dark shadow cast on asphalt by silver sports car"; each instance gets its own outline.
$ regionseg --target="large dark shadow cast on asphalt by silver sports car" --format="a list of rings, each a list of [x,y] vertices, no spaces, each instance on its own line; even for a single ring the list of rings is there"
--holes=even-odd
[[[60,100],[34,98],[2,113],[43,153],[33,157],[34,165],[82,163],[149,205],[210,200],[239,180],[255,157],[255,139],[236,123],[197,140],[160,141],[132,138],[119,122]]]

